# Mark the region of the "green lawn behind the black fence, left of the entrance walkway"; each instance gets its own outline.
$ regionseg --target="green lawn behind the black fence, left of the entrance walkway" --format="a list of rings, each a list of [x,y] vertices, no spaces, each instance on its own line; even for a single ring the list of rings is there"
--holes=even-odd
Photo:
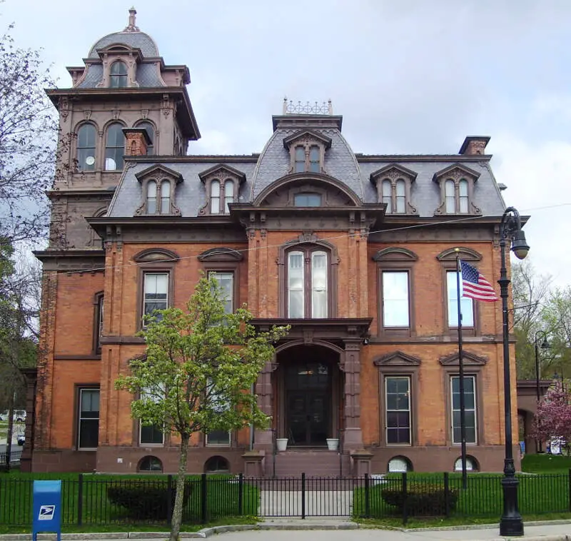
[[[84,475],[81,497],[82,525],[106,527],[112,525],[145,524],[163,520],[135,520],[128,517],[124,507],[108,500],[107,489],[116,485],[143,483],[145,487],[161,487],[166,491],[167,477],[162,476],[119,476]],[[78,474],[24,474],[11,472],[0,475],[0,525],[17,526],[31,524],[33,480],[61,479],[62,481],[62,525],[64,531],[73,531],[79,525],[79,475]],[[187,525],[201,525],[203,491],[200,476],[188,476],[191,495],[183,510],[183,521]],[[173,480],[174,481],[174,480]],[[241,502],[241,508],[239,504]],[[258,512],[259,490],[243,483],[240,500],[240,485],[235,477],[208,476],[206,483],[206,521],[226,520],[226,517],[253,516]],[[113,526],[116,527],[116,526]]]

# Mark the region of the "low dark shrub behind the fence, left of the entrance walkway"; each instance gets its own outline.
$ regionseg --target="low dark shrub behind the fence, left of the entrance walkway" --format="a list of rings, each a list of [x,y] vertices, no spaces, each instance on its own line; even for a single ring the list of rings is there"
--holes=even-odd
[[[188,502],[192,485],[185,483],[183,505]],[[111,503],[124,507],[127,516],[133,519],[168,520],[168,489],[166,485],[149,485],[147,482],[130,482],[107,488],[107,497]],[[176,490],[173,486],[171,510],[174,507]]]

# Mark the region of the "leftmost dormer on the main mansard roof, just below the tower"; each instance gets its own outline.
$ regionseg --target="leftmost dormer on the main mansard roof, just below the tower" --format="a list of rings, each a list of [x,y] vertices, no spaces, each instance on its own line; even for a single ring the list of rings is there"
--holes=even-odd
[[[175,206],[175,188],[182,181],[181,173],[163,166],[151,166],[136,173],[136,177],[143,191],[143,204],[137,209],[137,216],[181,215]]]

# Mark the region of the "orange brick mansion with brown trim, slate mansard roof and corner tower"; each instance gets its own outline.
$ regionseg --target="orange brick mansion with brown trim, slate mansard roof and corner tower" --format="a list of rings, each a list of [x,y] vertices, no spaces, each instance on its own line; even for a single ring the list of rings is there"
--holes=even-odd
[[[48,91],[73,144],[51,193],[52,243],[36,254],[44,317],[25,467],[176,470],[176,441],[133,421],[113,381],[144,350],[141,315],[183,307],[202,270],[228,310],[247,303],[260,328],[291,332],[256,385],[271,430],[195,434],[189,471],[453,470],[454,249],[490,281],[500,268],[489,138],[454,155],[363,155],[330,103],[285,102],[259,153],[194,156],[188,68],[165,64],[135,16],[69,68],[71,88]],[[501,310],[462,302],[469,464],[498,471]]]

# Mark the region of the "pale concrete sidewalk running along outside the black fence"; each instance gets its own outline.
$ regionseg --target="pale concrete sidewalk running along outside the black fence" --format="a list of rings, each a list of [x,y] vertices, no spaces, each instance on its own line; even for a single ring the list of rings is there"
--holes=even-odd
[[[317,518],[265,520],[258,525],[233,525],[204,528],[199,532],[182,532],[181,539],[211,537],[223,534],[223,541],[571,541],[571,521],[527,522],[523,537],[500,537],[497,525],[490,527],[426,528],[415,530],[383,530],[358,525],[347,520]],[[350,531],[348,531],[350,530]],[[167,540],[168,532],[74,533],[63,534],[65,541]],[[0,535],[0,541],[28,541],[31,534]],[[42,541],[55,540],[56,535],[40,534]]]

